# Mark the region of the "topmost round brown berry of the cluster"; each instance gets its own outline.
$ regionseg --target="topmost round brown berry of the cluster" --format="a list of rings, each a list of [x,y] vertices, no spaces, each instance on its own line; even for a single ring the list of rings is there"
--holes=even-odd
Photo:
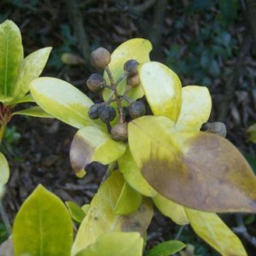
[[[111,61],[111,55],[108,49],[100,47],[90,54],[90,63],[93,67],[104,68]]]

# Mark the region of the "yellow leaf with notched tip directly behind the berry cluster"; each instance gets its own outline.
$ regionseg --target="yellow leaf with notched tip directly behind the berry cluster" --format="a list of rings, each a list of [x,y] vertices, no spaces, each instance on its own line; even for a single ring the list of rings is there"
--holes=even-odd
[[[116,81],[124,74],[124,64],[128,60],[136,60],[139,63],[149,61],[149,52],[152,49],[150,42],[143,38],[134,38],[120,44],[111,55],[111,62],[108,65],[110,68],[113,79]],[[107,73],[104,74],[104,78],[108,81]],[[118,86],[119,94],[123,94],[126,90],[126,80],[122,81]],[[105,101],[108,100],[112,90],[103,90],[103,98]],[[142,86],[133,88],[127,95],[131,100],[136,101],[144,95]]]

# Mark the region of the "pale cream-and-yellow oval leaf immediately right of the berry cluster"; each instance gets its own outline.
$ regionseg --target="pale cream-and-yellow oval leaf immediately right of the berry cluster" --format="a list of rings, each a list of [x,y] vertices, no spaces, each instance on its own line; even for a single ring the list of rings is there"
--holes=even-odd
[[[145,96],[154,115],[177,121],[182,106],[181,82],[170,68],[151,61],[139,67]]]

